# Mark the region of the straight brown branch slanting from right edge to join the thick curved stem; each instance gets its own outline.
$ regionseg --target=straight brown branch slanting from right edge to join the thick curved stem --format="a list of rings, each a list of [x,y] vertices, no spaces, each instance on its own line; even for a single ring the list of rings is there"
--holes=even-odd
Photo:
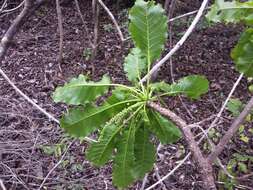
[[[219,156],[219,154],[224,150],[226,145],[232,139],[236,131],[239,129],[240,125],[245,121],[245,118],[249,115],[249,113],[253,109],[253,97],[250,99],[244,110],[241,114],[234,120],[229,130],[222,137],[218,145],[213,149],[211,154],[208,156],[208,160],[210,162],[214,162],[214,160]]]

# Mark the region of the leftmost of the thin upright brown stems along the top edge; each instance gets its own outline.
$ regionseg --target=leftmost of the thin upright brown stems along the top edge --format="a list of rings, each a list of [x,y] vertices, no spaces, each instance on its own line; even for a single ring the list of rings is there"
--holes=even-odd
[[[59,41],[59,57],[58,62],[59,64],[63,63],[63,24],[62,24],[62,12],[61,12],[61,5],[60,1],[56,0],[56,11],[57,11],[57,18],[58,18],[58,28],[60,34],[60,41]]]

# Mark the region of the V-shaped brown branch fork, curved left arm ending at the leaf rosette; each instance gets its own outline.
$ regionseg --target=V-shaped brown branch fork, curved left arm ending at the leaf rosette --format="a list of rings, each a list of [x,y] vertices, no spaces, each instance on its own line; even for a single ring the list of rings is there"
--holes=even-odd
[[[250,101],[248,102],[244,110],[241,112],[241,114],[234,120],[231,127],[226,132],[226,134],[221,138],[218,145],[214,146],[214,148],[212,149],[211,153],[208,156],[205,156],[202,153],[198,145],[198,142],[195,141],[190,125],[188,125],[182,118],[180,118],[171,110],[161,107],[157,103],[149,102],[148,106],[154,109],[155,111],[159,112],[162,116],[166,117],[167,119],[171,120],[177,125],[177,127],[183,133],[183,136],[189,146],[189,149],[193,154],[195,161],[197,161],[201,169],[200,172],[202,180],[204,182],[204,187],[207,190],[216,190],[212,164],[215,162],[216,159],[218,159],[219,154],[225,149],[226,145],[229,143],[234,134],[237,132],[240,125],[245,121],[247,115],[250,114],[250,112],[252,111],[253,97],[250,99]]]

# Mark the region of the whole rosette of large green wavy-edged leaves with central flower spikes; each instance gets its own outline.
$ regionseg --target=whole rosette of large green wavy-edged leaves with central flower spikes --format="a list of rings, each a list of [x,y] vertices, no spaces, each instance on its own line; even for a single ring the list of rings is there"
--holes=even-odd
[[[152,64],[160,58],[167,40],[167,17],[161,5],[154,1],[137,0],[129,13],[129,32],[135,47],[129,50],[124,71],[131,86],[112,83],[108,75],[100,81],[90,81],[80,75],[53,94],[55,102],[76,106],[61,119],[61,127],[75,137],[85,137],[98,131],[98,141],[86,150],[85,158],[95,166],[113,161],[113,184],[125,188],[150,172],[155,162],[152,137],[161,143],[176,142],[180,130],[168,119],[147,105],[164,96],[185,95],[198,99],[208,91],[204,76],[191,75],[168,84],[142,83]],[[97,104],[100,96],[110,96]]]

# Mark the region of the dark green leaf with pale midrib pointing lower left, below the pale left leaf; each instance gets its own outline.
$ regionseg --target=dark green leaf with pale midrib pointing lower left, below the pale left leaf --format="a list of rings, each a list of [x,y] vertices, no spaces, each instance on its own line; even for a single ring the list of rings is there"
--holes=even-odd
[[[87,106],[85,110],[72,109],[61,119],[61,127],[76,137],[85,137],[95,131],[114,115],[135,102],[119,90],[113,91],[111,97],[99,107]]]

